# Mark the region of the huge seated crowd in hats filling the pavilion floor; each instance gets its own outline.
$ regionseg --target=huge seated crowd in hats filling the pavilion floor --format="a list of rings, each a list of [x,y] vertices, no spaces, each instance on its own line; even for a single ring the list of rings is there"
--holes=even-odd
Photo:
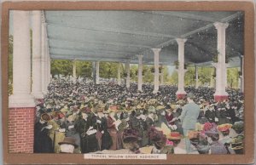
[[[35,153],[243,153],[243,95],[214,101],[214,88],[94,84],[54,78],[38,100]],[[230,136],[232,132],[233,137]],[[181,141],[185,147],[179,147]]]

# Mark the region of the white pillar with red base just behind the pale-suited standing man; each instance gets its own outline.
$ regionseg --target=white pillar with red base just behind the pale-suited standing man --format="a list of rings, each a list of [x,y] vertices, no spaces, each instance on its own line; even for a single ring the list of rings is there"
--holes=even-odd
[[[177,99],[182,99],[186,92],[184,90],[184,44],[187,39],[177,38],[177,45],[178,45],[178,85],[177,85]]]

